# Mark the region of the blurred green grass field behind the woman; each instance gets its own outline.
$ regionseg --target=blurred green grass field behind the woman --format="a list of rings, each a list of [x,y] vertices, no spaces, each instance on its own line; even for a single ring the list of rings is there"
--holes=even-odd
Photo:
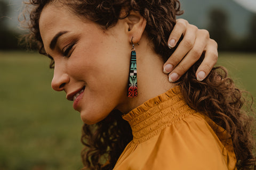
[[[256,54],[219,54],[238,86],[256,97]],[[80,169],[82,121],[51,89],[49,60],[0,52],[0,169]]]

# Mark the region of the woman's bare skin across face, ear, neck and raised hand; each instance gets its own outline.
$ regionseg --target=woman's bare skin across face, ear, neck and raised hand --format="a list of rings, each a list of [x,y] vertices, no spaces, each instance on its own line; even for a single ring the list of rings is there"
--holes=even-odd
[[[146,21],[136,13],[131,13],[127,19],[119,21],[116,27],[104,31],[97,24],[81,20],[67,9],[63,11],[63,6],[60,9],[58,5],[53,4],[44,8],[39,25],[46,52],[55,61],[52,88],[57,91],[64,90],[67,99],[72,100],[78,91],[86,87],[82,95],[74,101],[73,107],[81,112],[82,120],[87,124],[101,121],[113,109],[119,109],[123,113],[129,112],[146,100],[172,88],[174,84],[167,83],[166,80],[177,81],[203,52],[205,58],[196,73],[199,81],[206,77],[218,59],[217,44],[210,39],[209,32],[199,30],[183,19],[177,20],[169,38],[169,47],[174,47],[181,35],[184,38],[165,64],[161,57],[154,53],[153,45],[143,34]],[[55,39],[56,44],[53,46],[51,39],[58,33],[59,37]],[[126,97],[127,78],[124,74],[129,69],[127,62],[130,62],[132,37],[134,43],[143,42],[139,48],[136,47],[137,53],[139,51],[140,54],[145,54],[147,60],[137,55],[137,64],[142,64],[138,69],[140,97],[131,100]],[[127,54],[124,55],[124,52]],[[144,65],[149,67],[143,67]],[[160,65],[164,73],[169,73],[167,79],[166,75],[160,72]],[[153,68],[159,72],[153,71]],[[154,83],[143,83],[153,81]]]

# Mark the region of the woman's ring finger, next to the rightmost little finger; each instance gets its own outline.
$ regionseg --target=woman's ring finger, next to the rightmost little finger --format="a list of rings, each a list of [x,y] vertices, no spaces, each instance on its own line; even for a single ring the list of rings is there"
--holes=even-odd
[[[189,52],[187,53],[186,57],[183,58],[183,60],[175,67],[175,69],[169,74],[169,81],[170,82],[175,82],[177,81],[181,75],[183,75],[187,70],[198,61],[198,59],[201,57],[202,53],[204,52],[205,45],[207,44],[207,41],[209,40],[209,33],[207,33],[205,30],[197,30],[196,31],[196,40],[194,43],[194,46],[191,47]],[[209,47],[210,48],[210,47]],[[178,49],[178,48],[177,48]],[[175,53],[175,52],[174,52]],[[174,54],[173,53],[173,54]],[[172,56],[171,56],[172,57]],[[208,71],[205,70],[207,67],[207,64],[210,64],[211,60],[207,60],[204,66],[202,66],[201,71]],[[213,64],[214,65],[214,64]],[[210,72],[210,71],[209,71]],[[209,73],[207,72],[207,73]],[[199,77],[201,78],[204,77],[205,75],[201,75],[202,72],[199,72]]]

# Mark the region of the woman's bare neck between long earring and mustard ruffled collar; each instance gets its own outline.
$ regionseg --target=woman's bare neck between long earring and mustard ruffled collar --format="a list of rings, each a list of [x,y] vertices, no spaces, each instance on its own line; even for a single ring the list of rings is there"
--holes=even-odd
[[[175,84],[168,81],[168,75],[163,73],[162,57],[155,53],[153,46],[145,36],[140,45],[135,46],[137,53],[137,84],[138,97],[125,99],[122,113],[127,113],[145,101],[163,94],[173,88]]]

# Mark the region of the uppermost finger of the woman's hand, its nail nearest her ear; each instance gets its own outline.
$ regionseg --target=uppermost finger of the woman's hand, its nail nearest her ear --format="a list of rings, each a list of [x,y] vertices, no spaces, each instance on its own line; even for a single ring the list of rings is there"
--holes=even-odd
[[[169,48],[175,47],[178,40],[186,32],[188,21],[184,19],[178,19],[176,20],[176,24],[174,25],[174,28],[171,32],[171,35],[168,39],[168,46]]]

